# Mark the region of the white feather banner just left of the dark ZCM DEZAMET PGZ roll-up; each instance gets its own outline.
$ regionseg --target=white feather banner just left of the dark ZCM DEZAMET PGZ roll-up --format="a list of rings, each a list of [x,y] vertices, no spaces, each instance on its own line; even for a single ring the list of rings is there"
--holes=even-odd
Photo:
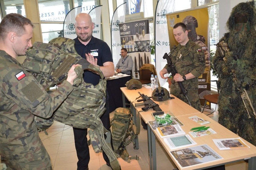
[[[121,42],[120,42],[120,31],[119,23],[125,22],[125,7],[126,3],[121,4],[114,11],[111,21],[111,51],[114,62],[114,67],[117,65],[120,59]]]

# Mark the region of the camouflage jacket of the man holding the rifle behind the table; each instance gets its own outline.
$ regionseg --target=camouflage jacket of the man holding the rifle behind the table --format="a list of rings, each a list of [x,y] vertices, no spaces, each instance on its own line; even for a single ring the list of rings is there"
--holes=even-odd
[[[205,69],[205,56],[201,47],[189,40],[185,46],[179,44],[174,47],[170,57],[177,73],[181,75],[192,73],[195,76],[193,79],[183,81],[184,87],[187,90],[198,88],[198,77],[204,73]],[[164,68],[170,73],[168,64]],[[179,88],[178,83],[174,85]]]

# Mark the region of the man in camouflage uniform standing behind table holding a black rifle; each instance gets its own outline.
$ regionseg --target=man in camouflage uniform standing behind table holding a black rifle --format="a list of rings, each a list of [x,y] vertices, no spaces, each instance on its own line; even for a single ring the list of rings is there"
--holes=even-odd
[[[200,97],[198,95],[198,77],[203,74],[205,69],[203,50],[188,38],[187,27],[184,23],[179,22],[175,24],[173,34],[179,43],[178,46],[172,48],[170,53],[172,63],[177,70],[173,80],[183,83],[188,91],[187,97],[192,107],[201,112]],[[160,71],[160,76],[163,79],[167,79],[168,77],[164,77],[166,73],[170,73],[168,64]],[[178,83],[171,85],[170,94],[188,103],[187,98],[180,94]]]

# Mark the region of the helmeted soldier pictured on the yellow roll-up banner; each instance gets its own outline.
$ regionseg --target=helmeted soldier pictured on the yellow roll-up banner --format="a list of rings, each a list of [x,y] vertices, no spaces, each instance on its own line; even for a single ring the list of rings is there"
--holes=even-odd
[[[198,35],[196,32],[196,28],[198,27],[197,19],[194,16],[189,15],[186,16],[182,22],[187,26],[188,38],[203,49],[205,55],[205,67],[207,67],[207,70],[210,70],[210,51],[205,44],[205,37],[203,35]]]

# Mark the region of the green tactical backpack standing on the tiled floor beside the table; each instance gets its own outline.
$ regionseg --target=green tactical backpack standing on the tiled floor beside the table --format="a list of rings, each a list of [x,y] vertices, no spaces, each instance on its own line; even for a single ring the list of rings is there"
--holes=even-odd
[[[130,108],[119,107],[115,109],[114,117],[110,122],[110,130],[112,136],[112,143],[114,152],[118,154],[123,160],[127,160],[130,163],[130,160],[139,160],[139,157],[129,157],[128,152],[126,151],[126,145],[133,142],[133,139],[140,131],[140,119],[136,119],[136,126],[133,125],[132,115]],[[130,136],[130,139],[126,139]],[[136,145],[133,142],[134,149]]]

